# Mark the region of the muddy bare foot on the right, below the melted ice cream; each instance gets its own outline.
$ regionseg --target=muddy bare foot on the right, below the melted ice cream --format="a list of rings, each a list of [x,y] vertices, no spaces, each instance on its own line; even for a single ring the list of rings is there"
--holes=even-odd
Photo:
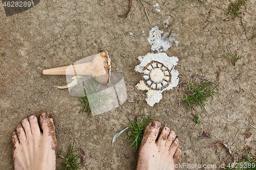
[[[159,135],[160,128],[161,124],[155,120],[145,127],[137,170],[176,169],[178,166],[181,149],[176,133],[164,127]]]

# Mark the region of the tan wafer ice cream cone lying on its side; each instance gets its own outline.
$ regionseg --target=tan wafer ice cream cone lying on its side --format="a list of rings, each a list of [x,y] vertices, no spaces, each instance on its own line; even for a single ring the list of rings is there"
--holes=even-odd
[[[111,60],[108,52],[97,54],[91,62],[45,69],[44,75],[92,76],[101,84],[108,84],[111,76]]]

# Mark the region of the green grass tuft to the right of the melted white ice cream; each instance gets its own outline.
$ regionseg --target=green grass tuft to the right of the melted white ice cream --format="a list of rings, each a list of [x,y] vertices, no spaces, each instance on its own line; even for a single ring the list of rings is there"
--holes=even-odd
[[[188,108],[194,108],[194,106],[201,105],[205,110],[204,102],[211,98],[212,95],[219,94],[214,90],[218,87],[219,83],[213,86],[215,83],[210,82],[210,79],[205,82],[195,82],[188,84],[188,94],[186,96],[182,96],[184,101],[188,105]]]

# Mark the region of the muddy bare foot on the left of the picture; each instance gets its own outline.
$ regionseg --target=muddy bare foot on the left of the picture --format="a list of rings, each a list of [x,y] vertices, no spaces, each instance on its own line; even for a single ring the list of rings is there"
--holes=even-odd
[[[53,118],[42,112],[39,118],[30,116],[22,120],[12,134],[15,170],[56,168],[57,139]],[[42,132],[40,131],[40,128]]]

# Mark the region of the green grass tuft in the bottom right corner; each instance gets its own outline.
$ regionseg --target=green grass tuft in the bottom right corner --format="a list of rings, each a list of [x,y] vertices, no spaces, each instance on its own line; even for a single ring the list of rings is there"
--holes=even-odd
[[[228,162],[227,164],[227,168],[224,168],[222,170],[243,170],[243,169],[250,169],[250,170],[256,170],[256,159],[252,158],[248,151],[247,148],[245,147],[245,152],[246,152],[246,156],[245,156],[245,161],[238,161],[235,164],[234,163],[230,163]]]

